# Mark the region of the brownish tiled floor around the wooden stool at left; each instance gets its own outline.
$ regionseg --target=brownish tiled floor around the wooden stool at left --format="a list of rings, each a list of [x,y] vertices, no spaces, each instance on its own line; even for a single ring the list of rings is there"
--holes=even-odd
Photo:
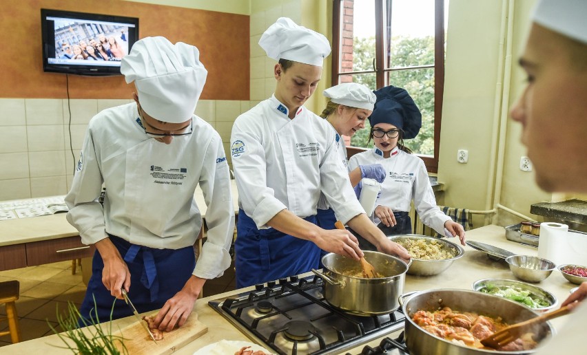
[[[71,261],[0,271],[0,281],[18,280],[20,297],[16,302],[22,341],[53,334],[49,324],[57,325],[56,311],[65,310],[68,301],[79,307],[85,295],[85,285],[78,266],[72,275]],[[205,283],[203,296],[234,290],[234,265],[225,275]],[[0,318],[6,316],[5,305],[0,305]],[[0,322],[0,331],[8,330],[6,321]],[[10,335],[0,336],[0,347],[10,345]],[[2,351],[0,350],[0,353]]]

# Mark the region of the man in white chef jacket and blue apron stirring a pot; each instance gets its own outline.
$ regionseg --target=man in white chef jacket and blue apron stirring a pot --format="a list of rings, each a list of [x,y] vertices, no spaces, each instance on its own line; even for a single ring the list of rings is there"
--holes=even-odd
[[[369,221],[349,182],[329,123],[303,104],[316,89],[330,45],[322,34],[280,18],[259,45],[274,67],[276,91],[234,122],[232,164],[238,186],[236,286],[298,275],[320,264],[320,248],[359,259],[347,230],[316,226],[320,192],[336,216],[379,250],[409,255]]]

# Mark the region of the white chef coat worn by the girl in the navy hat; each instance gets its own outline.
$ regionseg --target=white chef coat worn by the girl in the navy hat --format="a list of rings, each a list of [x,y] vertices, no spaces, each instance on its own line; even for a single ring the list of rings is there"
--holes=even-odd
[[[440,235],[444,235],[444,222],[451,220],[451,217],[442,213],[436,205],[434,191],[432,191],[426,165],[422,159],[398,147],[391,151],[389,158],[383,158],[382,151],[374,147],[353,155],[349,160],[348,168],[351,171],[359,165],[369,164],[382,164],[386,171],[377,205],[387,206],[393,212],[409,212],[410,203],[413,200],[422,223],[434,228]],[[374,215],[371,217],[375,224],[381,222]]]

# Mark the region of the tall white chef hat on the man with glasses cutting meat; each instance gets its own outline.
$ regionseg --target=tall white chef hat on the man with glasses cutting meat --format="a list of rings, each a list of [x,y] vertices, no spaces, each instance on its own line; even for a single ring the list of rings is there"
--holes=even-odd
[[[121,73],[136,87],[138,102],[157,120],[181,123],[192,118],[208,74],[193,45],[165,37],[145,37],[123,57]]]

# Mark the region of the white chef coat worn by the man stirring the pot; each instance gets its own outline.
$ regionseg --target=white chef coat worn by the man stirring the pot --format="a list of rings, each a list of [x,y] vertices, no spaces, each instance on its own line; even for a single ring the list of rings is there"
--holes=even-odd
[[[241,208],[257,228],[287,208],[316,215],[320,191],[341,222],[364,213],[340,160],[330,123],[305,107],[293,119],[275,96],[236,118],[232,165]]]

